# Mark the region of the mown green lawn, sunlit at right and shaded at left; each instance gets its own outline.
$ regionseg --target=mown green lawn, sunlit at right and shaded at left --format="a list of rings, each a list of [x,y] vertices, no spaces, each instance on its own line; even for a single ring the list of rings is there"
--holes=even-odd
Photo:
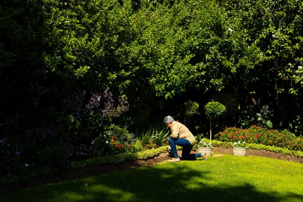
[[[303,165],[210,156],[30,187],[0,202],[302,202]]]

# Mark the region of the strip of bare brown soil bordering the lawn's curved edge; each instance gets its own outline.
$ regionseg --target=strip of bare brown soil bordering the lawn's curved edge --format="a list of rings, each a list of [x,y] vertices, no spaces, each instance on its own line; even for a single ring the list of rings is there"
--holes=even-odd
[[[181,151],[180,155],[181,155]],[[193,151],[192,153],[196,153]],[[212,155],[220,155],[220,154],[232,154],[232,148],[224,148],[224,147],[214,147],[212,149]],[[248,149],[247,156],[264,156],[270,157],[274,159],[281,159],[285,161],[292,161],[296,163],[303,163],[303,158],[298,158],[292,155],[284,155],[274,152],[269,152],[265,150],[252,150]],[[76,178],[87,177],[93,174],[111,172],[111,171],[119,171],[122,169],[131,169],[140,166],[153,166],[159,162],[165,161],[169,159],[166,153],[160,154],[154,158],[147,159],[147,160],[136,160],[136,161],[127,161],[120,164],[104,164],[100,166],[87,166],[85,168],[77,168],[68,171],[62,171],[60,173],[52,173],[43,176],[32,177],[26,182],[20,183],[12,183],[8,185],[0,186],[0,196],[3,196],[7,193],[12,193],[18,190],[22,190],[26,187],[30,186],[39,186],[49,183],[56,183]]]

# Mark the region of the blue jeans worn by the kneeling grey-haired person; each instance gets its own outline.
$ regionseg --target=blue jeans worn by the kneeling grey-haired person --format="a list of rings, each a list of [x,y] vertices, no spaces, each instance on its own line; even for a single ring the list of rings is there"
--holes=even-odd
[[[190,154],[190,152],[192,151],[193,145],[184,138],[178,138],[178,139],[169,138],[168,143],[172,150],[174,158],[179,157],[176,145],[183,147],[182,148],[182,160],[195,160],[197,157],[201,157],[201,153]]]

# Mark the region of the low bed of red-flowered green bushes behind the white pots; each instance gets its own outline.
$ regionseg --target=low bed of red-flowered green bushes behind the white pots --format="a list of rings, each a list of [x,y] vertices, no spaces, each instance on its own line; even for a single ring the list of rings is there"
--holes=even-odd
[[[296,137],[288,130],[264,129],[252,125],[247,129],[228,127],[214,136],[216,140],[223,142],[245,141],[246,143],[263,144],[286,148],[293,151],[303,150],[303,137]]]

